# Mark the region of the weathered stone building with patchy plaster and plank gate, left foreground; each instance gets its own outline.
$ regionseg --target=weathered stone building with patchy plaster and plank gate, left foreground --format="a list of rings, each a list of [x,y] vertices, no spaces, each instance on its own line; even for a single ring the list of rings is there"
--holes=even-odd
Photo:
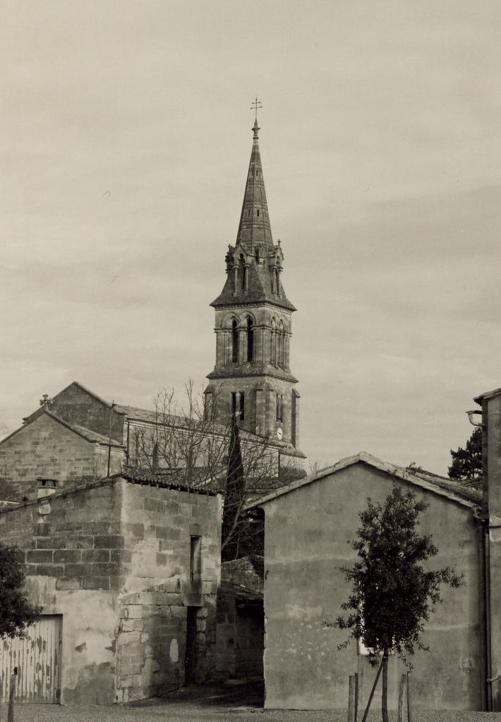
[[[133,474],[39,483],[0,508],[43,606],[27,640],[3,642],[4,687],[19,666],[20,701],[109,705],[212,677],[220,497]]]

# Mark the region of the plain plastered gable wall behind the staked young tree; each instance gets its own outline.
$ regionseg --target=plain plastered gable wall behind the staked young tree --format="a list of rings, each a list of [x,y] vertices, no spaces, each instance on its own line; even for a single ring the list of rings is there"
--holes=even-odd
[[[375,671],[356,645],[337,646],[340,630],[322,621],[342,613],[348,586],[340,571],[354,561],[347,544],[367,496],[384,500],[397,481],[366,464],[349,466],[265,505],[265,684],[267,708],[343,708],[348,675],[360,675],[360,704],[367,702]],[[398,483],[406,486],[406,482]],[[410,486],[410,485],[409,485]],[[416,491],[416,487],[412,487]],[[476,529],[471,510],[418,491],[429,502],[421,531],[432,533],[437,566],[453,565],[466,586],[446,588],[443,604],[423,636],[429,653],[414,658],[416,707],[480,708],[479,575]],[[389,664],[390,704],[396,704],[403,666]],[[377,705],[377,699],[375,700]]]

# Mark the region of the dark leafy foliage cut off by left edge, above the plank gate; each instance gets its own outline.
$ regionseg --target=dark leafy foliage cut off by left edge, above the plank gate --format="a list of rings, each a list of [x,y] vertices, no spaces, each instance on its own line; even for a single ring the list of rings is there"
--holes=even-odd
[[[30,604],[23,591],[22,561],[20,549],[0,543],[0,638],[24,636],[42,611]]]

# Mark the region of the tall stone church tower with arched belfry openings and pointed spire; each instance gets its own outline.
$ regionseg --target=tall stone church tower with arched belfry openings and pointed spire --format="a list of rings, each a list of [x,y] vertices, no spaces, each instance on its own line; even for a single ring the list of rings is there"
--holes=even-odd
[[[299,452],[299,393],[291,373],[291,316],[282,285],[283,252],[273,243],[258,142],[257,118],[235,245],[226,253],[226,283],[215,308],[214,370],[206,408],[239,427]]]

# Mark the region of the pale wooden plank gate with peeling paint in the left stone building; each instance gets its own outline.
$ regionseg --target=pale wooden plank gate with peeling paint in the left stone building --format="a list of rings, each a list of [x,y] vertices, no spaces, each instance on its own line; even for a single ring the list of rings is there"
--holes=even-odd
[[[59,703],[62,620],[62,614],[42,614],[25,639],[0,639],[2,700],[9,699],[9,679],[17,667],[17,702]]]

